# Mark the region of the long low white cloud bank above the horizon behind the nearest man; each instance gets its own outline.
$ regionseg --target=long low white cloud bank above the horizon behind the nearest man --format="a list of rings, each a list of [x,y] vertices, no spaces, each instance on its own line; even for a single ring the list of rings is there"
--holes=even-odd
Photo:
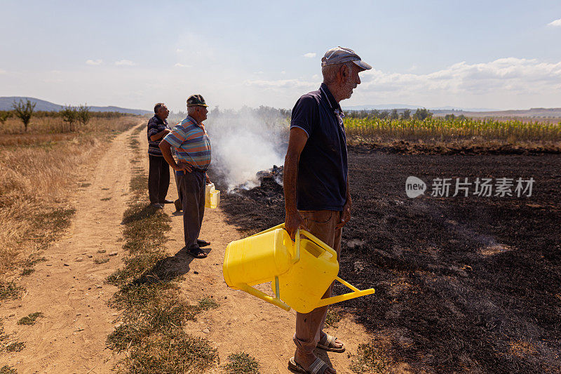
[[[500,58],[481,63],[458,62],[428,74],[370,70],[361,73],[360,79],[362,84],[349,105],[401,102],[427,106],[530,107],[560,98],[561,62]],[[316,90],[320,81],[321,77],[314,74],[299,79],[251,79],[243,85],[274,92],[277,97],[294,98]]]

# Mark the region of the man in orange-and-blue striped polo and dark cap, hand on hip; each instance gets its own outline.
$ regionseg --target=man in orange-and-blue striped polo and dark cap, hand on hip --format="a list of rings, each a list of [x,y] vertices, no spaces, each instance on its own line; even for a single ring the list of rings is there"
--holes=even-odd
[[[182,198],[185,248],[195,258],[207,254],[201,246],[209,243],[198,239],[205,214],[205,186],[210,183],[206,169],[210,165],[210,140],[203,121],[208,105],[201,95],[187,99],[187,118],[165,135],[160,143],[165,161],[175,170],[177,188]],[[171,154],[175,149],[177,163]]]

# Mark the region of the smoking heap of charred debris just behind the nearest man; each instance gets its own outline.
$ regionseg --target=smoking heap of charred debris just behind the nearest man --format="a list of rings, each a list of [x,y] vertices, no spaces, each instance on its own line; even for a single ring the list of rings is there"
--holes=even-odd
[[[241,185],[232,189],[231,193],[264,202],[267,206],[281,204],[284,207],[283,171],[284,166],[276,165],[269,170],[258,171],[256,177],[259,185],[257,187],[247,189]]]

